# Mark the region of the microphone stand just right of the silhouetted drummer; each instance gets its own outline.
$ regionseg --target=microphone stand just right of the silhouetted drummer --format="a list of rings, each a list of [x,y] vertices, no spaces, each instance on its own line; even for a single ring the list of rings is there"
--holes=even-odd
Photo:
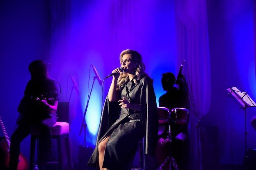
[[[191,104],[193,105],[193,109],[194,109],[194,111],[195,111],[195,118],[196,118],[196,122],[197,122],[197,124],[195,124],[195,127],[196,127],[196,129],[197,129],[197,145],[198,145],[198,154],[197,154],[197,156],[198,156],[198,169],[200,170],[200,165],[201,165],[201,163],[200,163],[200,150],[199,150],[199,146],[200,146],[200,144],[199,144],[199,136],[200,136],[200,133],[199,133],[199,131],[200,131],[200,129],[202,130],[202,135],[204,136],[204,130],[202,129],[202,124],[201,124],[201,122],[200,122],[200,119],[198,118],[198,113],[197,113],[197,111],[196,111],[196,109],[195,109],[195,103],[193,102],[193,100],[192,100],[192,97],[191,97],[191,95],[190,95],[190,93],[189,93],[189,88],[188,88],[188,85],[186,84],[186,81],[185,81],[185,78],[184,78],[184,75],[183,74],[181,74],[181,78],[183,79],[183,81],[184,81],[184,84],[185,84],[185,86],[186,86],[186,90],[187,90],[187,92],[188,92],[188,94],[189,94],[189,98],[190,98],[190,100],[191,100]],[[181,81],[182,82],[182,81]],[[180,89],[180,85],[179,85],[179,89]]]

